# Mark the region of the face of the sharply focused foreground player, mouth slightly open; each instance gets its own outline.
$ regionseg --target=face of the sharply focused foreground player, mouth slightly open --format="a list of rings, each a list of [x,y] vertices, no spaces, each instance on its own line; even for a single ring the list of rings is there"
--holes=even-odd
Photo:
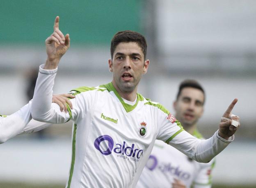
[[[119,43],[108,60],[110,72],[113,72],[113,85],[121,92],[137,91],[142,74],[146,74],[149,60],[144,61],[141,47],[135,42]]]

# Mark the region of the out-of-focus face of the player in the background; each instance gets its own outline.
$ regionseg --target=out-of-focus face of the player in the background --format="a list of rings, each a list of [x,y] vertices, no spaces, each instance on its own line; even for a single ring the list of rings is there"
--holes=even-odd
[[[176,118],[183,126],[197,123],[203,114],[204,95],[201,90],[193,87],[184,87],[177,101],[174,102]]]

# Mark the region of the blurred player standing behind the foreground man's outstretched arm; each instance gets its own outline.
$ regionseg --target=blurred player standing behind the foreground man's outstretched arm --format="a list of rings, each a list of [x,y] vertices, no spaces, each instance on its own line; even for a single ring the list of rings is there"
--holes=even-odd
[[[197,131],[197,121],[203,114],[205,93],[195,80],[181,82],[176,101],[175,117],[194,137],[203,139]],[[155,141],[149,160],[139,178],[137,188],[210,188],[214,159],[198,163],[162,141]]]

